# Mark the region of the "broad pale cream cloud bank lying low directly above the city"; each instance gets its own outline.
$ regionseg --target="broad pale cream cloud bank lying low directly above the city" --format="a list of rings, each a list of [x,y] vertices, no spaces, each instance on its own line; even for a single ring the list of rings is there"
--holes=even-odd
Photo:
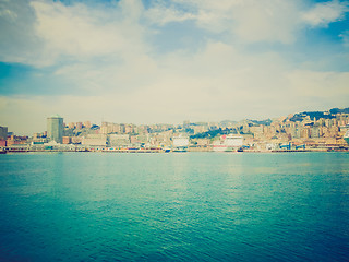
[[[305,103],[314,109],[325,102],[328,107],[334,100],[340,106],[349,98],[348,73],[292,70],[278,53],[246,55],[222,43],[212,41],[192,56],[177,52],[158,61],[140,60],[139,68],[132,63],[98,71],[82,66],[61,72],[88,72],[75,81],[84,85],[96,80],[109,87],[95,96],[56,98],[50,103],[52,112],[97,122],[100,118],[135,123],[239,120],[287,115]]]

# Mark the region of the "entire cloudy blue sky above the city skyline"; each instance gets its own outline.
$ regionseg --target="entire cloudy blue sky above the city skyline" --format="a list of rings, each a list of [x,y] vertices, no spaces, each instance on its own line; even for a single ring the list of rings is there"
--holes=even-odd
[[[0,0],[0,126],[349,106],[349,1]]]

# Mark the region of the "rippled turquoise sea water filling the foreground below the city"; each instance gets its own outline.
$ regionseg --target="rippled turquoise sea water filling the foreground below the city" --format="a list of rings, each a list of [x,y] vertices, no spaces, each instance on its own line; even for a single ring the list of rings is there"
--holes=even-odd
[[[0,261],[349,261],[349,154],[0,155]]]

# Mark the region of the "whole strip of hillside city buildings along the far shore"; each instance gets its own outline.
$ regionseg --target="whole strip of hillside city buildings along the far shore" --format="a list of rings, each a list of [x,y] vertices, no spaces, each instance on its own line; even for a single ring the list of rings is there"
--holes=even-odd
[[[267,121],[141,126],[112,122],[97,126],[91,121],[64,123],[63,118],[56,115],[47,118],[47,131],[32,138],[16,136],[9,133],[8,128],[0,127],[0,146],[26,146],[33,151],[174,148],[181,141],[181,146],[189,151],[213,151],[225,148],[230,138],[244,151],[348,150],[344,140],[348,130],[349,114],[346,112],[325,112],[313,118],[311,114],[298,114]]]

